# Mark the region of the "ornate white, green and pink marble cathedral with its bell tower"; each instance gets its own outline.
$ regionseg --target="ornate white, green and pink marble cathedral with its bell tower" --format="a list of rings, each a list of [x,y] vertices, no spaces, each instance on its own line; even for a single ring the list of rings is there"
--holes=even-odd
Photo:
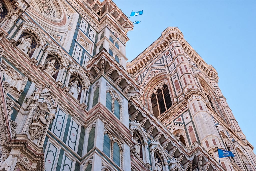
[[[133,23],[111,0],[0,14],[0,171],[256,171],[216,69],[177,27],[126,63]]]

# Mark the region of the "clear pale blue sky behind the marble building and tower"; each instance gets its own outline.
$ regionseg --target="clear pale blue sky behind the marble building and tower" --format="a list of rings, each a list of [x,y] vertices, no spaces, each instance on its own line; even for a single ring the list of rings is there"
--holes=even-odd
[[[128,61],[167,27],[178,27],[196,52],[218,71],[219,87],[247,140],[256,148],[256,1],[113,1],[128,17],[132,10],[144,10],[143,15],[130,18],[141,23],[128,32]]]

